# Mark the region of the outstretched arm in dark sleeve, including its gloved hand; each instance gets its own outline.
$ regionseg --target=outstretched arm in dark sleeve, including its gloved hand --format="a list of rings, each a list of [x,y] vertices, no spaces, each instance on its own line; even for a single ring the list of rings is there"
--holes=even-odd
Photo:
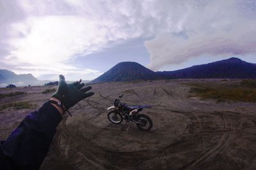
[[[30,113],[0,145],[0,169],[3,169],[1,158],[11,169],[39,169],[63,113],[79,101],[93,96],[93,92],[88,92],[92,87],[83,87],[81,80],[67,84],[65,77],[60,75],[58,89],[51,99],[55,102],[48,101],[40,110]]]

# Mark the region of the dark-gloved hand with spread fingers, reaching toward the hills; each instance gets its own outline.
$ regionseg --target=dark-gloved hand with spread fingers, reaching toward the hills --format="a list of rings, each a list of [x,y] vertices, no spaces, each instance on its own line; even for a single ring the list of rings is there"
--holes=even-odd
[[[81,83],[81,80],[67,84],[65,77],[60,75],[58,89],[56,93],[52,95],[52,97],[59,99],[65,106],[66,110],[68,110],[86,97],[93,96],[93,92],[86,93],[88,90],[92,89],[91,86],[84,88],[82,87],[84,87],[84,83]]]

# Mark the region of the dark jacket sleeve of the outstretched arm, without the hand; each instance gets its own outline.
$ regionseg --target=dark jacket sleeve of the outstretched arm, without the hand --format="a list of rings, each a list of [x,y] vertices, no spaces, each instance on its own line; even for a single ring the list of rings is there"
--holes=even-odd
[[[0,144],[0,169],[39,169],[61,119],[50,103],[30,113]]]

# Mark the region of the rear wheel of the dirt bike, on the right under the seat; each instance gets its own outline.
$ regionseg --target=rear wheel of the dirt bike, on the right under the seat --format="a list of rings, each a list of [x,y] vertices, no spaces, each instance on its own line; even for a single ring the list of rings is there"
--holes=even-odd
[[[153,122],[147,115],[138,115],[136,119],[138,121],[136,125],[141,131],[150,131],[150,129],[153,127]]]

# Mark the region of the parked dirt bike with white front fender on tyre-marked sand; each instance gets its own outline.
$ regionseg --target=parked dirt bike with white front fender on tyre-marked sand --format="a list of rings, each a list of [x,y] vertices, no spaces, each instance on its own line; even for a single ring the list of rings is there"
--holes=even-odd
[[[141,131],[150,131],[153,126],[153,122],[150,117],[144,114],[138,114],[143,108],[150,108],[151,106],[128,106],[125,103],[120,103],[120,99],[124,96],[122,94],[115,99],[114,106],[110,106],[108,110],[112,110],[108,113],[108,120],[113,124],[120,124],[123,120],[130,122],[129,127],[132,122],[134,122]],[[113,110],[114,109],[114,110]],[[128,131],[127,127],[126,131]]]

